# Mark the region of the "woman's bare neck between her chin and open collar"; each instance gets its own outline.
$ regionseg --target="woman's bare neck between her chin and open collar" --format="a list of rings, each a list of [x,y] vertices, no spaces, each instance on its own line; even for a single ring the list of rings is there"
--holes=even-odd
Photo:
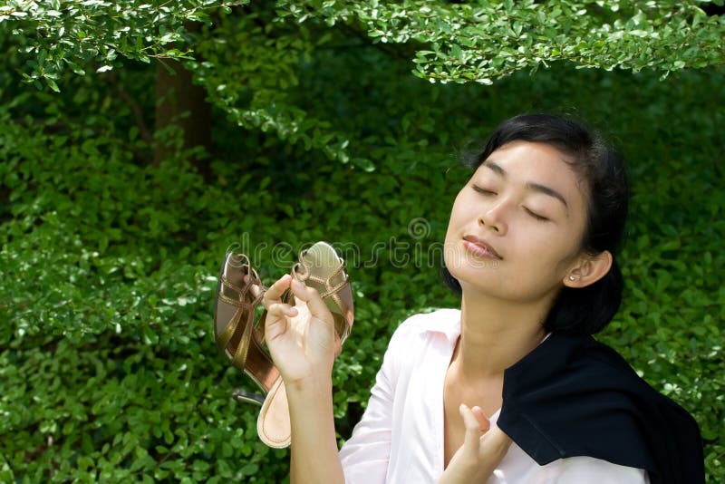
[[[504,370],[544,339],[550,300],[526,304],[463,294],[460,339],[454,353],[466,379],[503,378]]]

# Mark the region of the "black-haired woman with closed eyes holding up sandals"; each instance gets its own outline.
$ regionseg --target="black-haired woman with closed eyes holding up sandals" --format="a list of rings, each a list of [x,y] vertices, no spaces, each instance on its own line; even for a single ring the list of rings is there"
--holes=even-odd
[[[401,324],[339,453],[332,316],[291,276],[267,290],[292,482],[704,481],[689,414],[590,337],[621,301],[622,160],[573,121],[528,114],[498,126],[473,168],[444,251],[460,310]]]

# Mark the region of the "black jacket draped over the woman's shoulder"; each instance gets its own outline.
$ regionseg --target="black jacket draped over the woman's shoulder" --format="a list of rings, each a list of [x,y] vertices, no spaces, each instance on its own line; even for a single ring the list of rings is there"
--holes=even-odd
[[[705,482],[697,422],[591,336],[551,334],[508,368],[498,427],[539,465],[589,456],[652,484]]]

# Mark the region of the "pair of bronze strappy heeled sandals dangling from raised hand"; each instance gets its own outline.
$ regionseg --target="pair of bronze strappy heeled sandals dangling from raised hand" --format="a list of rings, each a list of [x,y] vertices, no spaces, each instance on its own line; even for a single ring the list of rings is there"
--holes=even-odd
[[[314,287],[333,315],[335,333],[342,345],[353,327],[353,291],[345,273],[344,260],[326,242],[317,242],[303,250],[292,276]],[[219,351],[229,363],[247,374],[266,394],[235,391],[235,397],[262,405],[256,421],[259,439],[269,447],[284,449],[292,433],[285,382],[264,350],[266,310],[255,323],[256,308],[266,287],[244,254],[228,253],[219,271],[214,336]],[[287,290],[282,302],[295,305],[295,296]]]

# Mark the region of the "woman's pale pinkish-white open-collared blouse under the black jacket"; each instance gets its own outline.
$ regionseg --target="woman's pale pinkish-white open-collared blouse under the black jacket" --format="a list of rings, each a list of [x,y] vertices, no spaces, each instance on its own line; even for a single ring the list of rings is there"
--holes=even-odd
[[[392,335],[362,420],[340,450],[347,484],[433,483],[443,473],[443,382],[460,311],[413,315]],[[492,416],[493,423],[498,411]],[[590,457],[540,466],[514,442],[487,484],[642,484],[643,469]]]

